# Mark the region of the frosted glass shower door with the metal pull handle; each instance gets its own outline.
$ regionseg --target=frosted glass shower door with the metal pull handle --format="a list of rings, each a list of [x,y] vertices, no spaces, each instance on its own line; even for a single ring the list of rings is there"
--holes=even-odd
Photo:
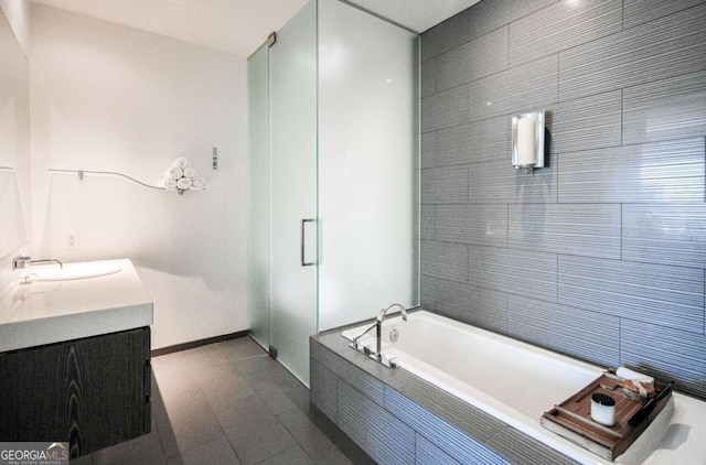
[[[317,333],[317,6],[277,32],[270,53],[270,312],[277,359],[309,386],[309,336]],[[302,229],[304,237],[302,237]],[[313,237],[312,237],[313,236]]]

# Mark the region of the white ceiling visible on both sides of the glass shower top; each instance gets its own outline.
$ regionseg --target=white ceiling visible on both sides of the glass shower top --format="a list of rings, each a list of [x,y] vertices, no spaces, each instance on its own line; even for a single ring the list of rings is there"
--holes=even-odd
[[[248,56],[307,0],[33,0],[74,13]],[[422,32],[479,0],[353,0]]]

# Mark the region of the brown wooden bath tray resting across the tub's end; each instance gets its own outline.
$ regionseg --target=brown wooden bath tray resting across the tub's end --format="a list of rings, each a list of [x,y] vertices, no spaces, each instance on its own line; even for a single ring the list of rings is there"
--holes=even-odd
[[[655,394],[666,385],[655,381]],[[591,419],[591,394],[600,392],[616,400],[616,424],[603,426]],[[622,382],[614,371],[606,371],[590,385],[542,415],[544,428],[566,437],[603,458],[613,461],[625,452],[640,434],[660,414],[672,397],[668,392],[660,399],[654,410],[640,424],[631,426],[628,420],[642,408],[642,402],[623,394]]]

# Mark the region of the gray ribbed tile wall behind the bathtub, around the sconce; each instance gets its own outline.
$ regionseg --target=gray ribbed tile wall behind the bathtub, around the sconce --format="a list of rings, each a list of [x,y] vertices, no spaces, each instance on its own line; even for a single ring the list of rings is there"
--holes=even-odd
[[[706,398],[704,24],[706,0],[482,0],[422,34],[427,309]]]

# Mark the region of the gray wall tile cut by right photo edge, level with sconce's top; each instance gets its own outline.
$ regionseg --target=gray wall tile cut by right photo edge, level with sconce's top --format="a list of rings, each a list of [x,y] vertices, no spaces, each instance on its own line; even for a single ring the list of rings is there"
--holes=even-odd
[[[623,90],[623,143],[706,136],[706,71]]]

